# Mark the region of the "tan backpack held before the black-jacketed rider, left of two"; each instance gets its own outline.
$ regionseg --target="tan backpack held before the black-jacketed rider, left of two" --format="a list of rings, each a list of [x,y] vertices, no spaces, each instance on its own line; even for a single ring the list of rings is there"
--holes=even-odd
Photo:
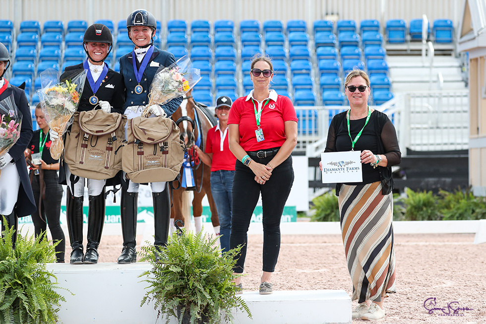
[[[122,170],[126,116],[91,110],[74,113],[66,134],[64,162],[73,175],[87,179],[113,178]]]

